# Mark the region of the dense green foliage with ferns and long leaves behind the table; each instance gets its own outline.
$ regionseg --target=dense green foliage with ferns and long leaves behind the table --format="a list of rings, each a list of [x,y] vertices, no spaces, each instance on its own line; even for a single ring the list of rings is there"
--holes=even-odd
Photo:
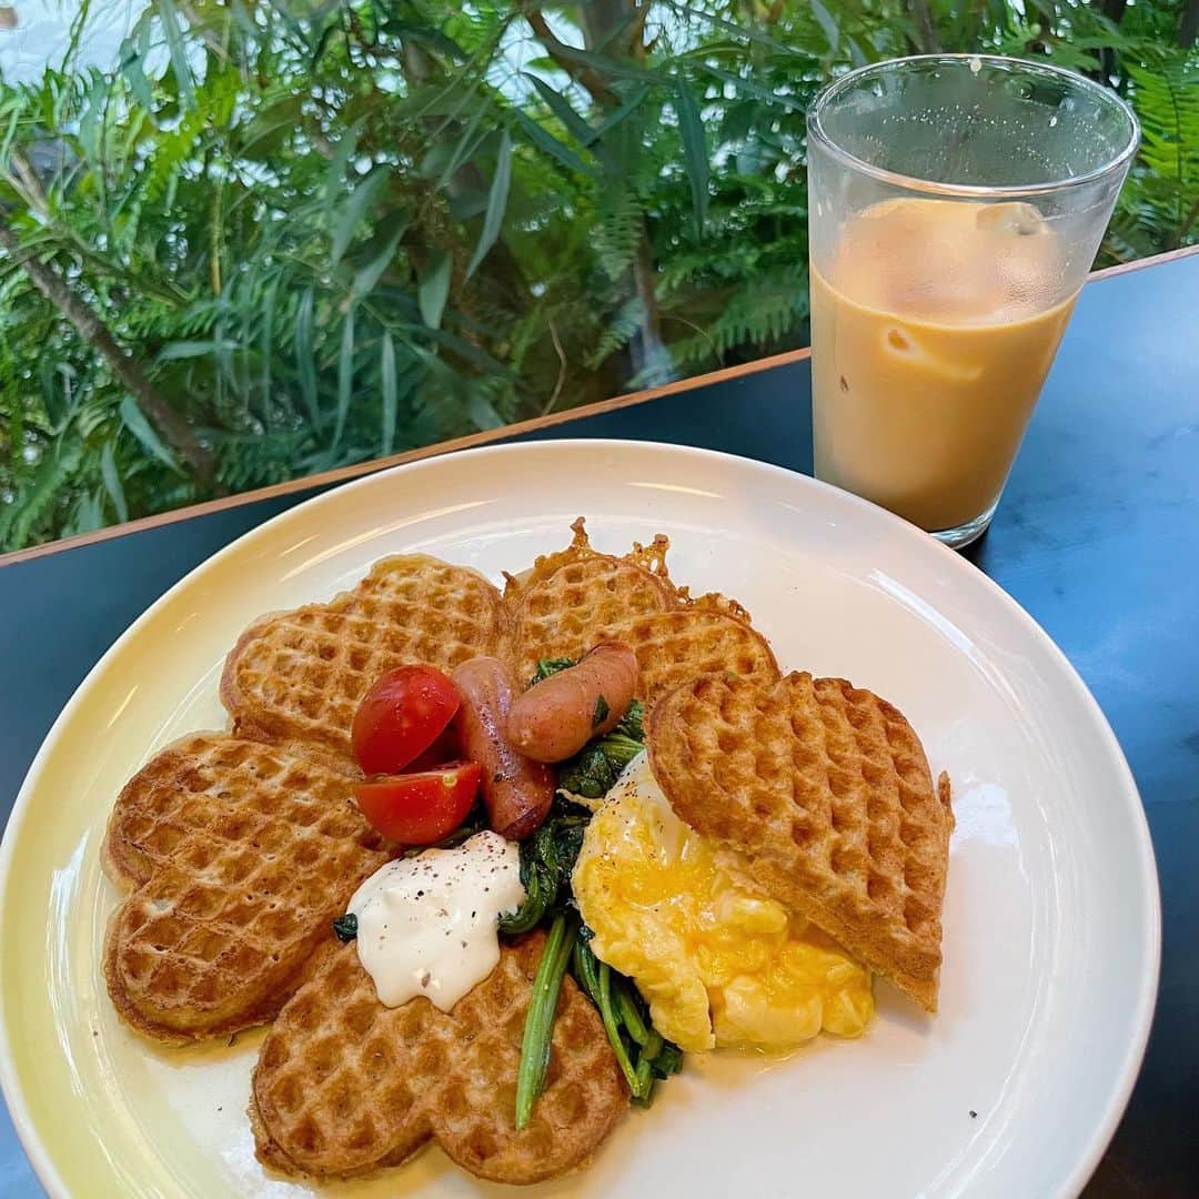
[[[863,62],[996,50],[1102,79],[1145,138],[1101,261],[1189,243],[1182,12],[144,0],[109,73],[0,80],[0,549],[802,344],[805,110]]]

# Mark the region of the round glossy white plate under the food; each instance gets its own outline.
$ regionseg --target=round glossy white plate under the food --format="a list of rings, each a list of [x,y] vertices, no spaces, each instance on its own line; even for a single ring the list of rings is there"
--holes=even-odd
[[[97,849],[121,783],[219,727],[217,674],[258,614],[426,550],[494,579],[655,532],[674,578],[741,600],[785,668],[896,703],[956,784],[941,1011],[885,984],[857,1042],[785,1061],[689,1059],[544,1194],[1078,1192],[1128,1098],[1157,986],[1152,850],[1115,739],[1044,633],[970,564],[809,478],[614,441],[505,446],[323,495],[193,571],[116,643],[47,737],[0,855],[0,1070],[52,1194],[283,1195],[245,1116],[258,1036],[159,1052],[104,994],[115,890]],[[335,1194],[477,1194],[439,1151]],[[508,1193],[508,1192],[502,1192]]]

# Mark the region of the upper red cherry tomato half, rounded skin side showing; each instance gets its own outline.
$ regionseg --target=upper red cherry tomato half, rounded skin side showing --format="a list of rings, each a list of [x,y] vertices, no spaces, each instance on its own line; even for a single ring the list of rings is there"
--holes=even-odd
[[[436,741],[460,703],[458,688],[434,667],[388,670],[354,716],[354,757],[367,775],[403,770]]]

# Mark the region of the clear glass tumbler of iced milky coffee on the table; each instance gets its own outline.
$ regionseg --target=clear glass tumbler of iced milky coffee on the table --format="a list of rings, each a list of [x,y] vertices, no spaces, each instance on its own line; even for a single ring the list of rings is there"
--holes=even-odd
[[[815,472],[950,546],[990,523],[1139,128],[986,55],[880,62],[808,114]]]

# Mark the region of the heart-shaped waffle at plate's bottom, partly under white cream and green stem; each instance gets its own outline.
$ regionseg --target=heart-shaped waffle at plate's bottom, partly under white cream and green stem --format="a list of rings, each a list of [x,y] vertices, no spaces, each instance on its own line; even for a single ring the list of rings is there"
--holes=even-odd
[[[394,1165],[435,1139],[496,1182],[537,1182],[580,1164],[628,1104],[596,1010],[566,977],[548,1084],[516,1127],[525,1012],[544,936],[502,947],[452,1012],[427,999],[384,1007],[354,945],[330,945],[271,1025],[251,1120],[264,1164],[347,1176]]]

